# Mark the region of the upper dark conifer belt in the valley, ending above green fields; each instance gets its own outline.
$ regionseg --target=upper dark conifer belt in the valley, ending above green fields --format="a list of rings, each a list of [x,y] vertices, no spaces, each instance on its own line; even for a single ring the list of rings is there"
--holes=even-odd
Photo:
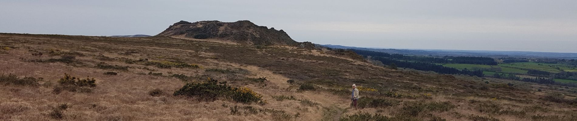
[[[389,54],[374,52],[369,50],[349,49],[363,56],[378,56],[394,58],[396,60],[419,61],[424,63],[455,63],[455,64],[484,64],[497,65],[498,63],[490,57],[465,57],[465,56],[444,56],[444,57],[424,57],[424,56],[404,56],[403,54]]]

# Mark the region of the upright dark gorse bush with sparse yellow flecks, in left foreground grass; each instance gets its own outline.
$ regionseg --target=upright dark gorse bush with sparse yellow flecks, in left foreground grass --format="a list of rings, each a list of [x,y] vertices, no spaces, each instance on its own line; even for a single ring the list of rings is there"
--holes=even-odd
[[[80,79],[72,77],[67,73],[64,73],[64,77],[58,80],[58,83],[60,86],[54,88],[54,93],[59,93],[62,89],[70,92],[91,92],[91,87],[96,87],[96,80],[93,78]]]

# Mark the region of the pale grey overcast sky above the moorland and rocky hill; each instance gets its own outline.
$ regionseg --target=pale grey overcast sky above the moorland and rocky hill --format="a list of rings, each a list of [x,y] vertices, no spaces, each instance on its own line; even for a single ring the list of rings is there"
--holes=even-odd
[[[249,20],[316,44],[577,53],[575,0],[0,0],[0,11],[0,33],[156,35],[181,20]]]

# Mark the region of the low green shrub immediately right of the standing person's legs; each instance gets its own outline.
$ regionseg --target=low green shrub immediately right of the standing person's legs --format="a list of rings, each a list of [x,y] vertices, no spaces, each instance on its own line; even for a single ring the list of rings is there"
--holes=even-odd
[[[379,108],[379,107],[389,107],[398,106],[399,101],[389,100],[389,99],[374,99],[372,97],[362,97],[357,102],[358,108]]]

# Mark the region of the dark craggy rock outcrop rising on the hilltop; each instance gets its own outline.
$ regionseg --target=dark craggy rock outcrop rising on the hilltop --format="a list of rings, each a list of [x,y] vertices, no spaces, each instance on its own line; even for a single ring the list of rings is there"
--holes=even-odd
[[[294,41],[283,30],[268,29],[267,26],[257,26],[250,21],[220,22],[220,21],[180,21],[168,27],[157,36],[182,36],[198,38],[219,38],[238,43],[254,45],[293,45],[300,43]]]

